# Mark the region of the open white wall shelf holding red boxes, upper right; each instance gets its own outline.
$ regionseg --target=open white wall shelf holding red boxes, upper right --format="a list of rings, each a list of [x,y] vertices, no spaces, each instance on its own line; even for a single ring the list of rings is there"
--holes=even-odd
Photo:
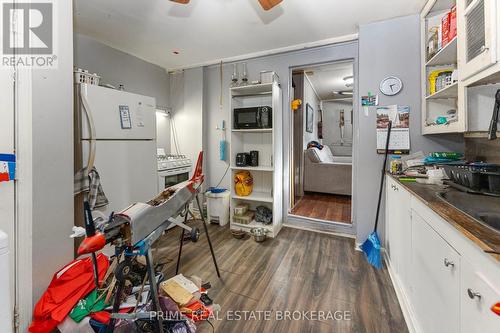
[[[438,26],[444,14],[456,5],[456,0],[429,0],[421,13],[421,45],[422,45],[422,134],[438,134],[464,132],[467,119],[463,105],[464,87],[455,82],[439,91],[430,94],[429,74],[434,70],[457,69],[458,39],[456,36],[441,48],[430,59],[427,54],[429,29]],[[457,16],[458,8],[457,8]],[[457,32],[458,33],[458,32]],[[435,120],[447,115],[450,110],[456,110],[457,120],[448,124],[436,125]]]

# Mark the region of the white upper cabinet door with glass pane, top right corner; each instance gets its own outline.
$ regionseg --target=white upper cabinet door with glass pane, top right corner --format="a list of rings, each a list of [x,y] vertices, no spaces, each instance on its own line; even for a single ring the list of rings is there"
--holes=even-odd
[[[462,79],[467,79],[497,61],[496,0],[459,0],[458,34]]]

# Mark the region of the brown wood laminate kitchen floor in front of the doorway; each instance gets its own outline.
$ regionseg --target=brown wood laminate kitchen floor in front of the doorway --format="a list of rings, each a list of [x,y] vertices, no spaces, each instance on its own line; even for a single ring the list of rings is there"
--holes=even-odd
[[[202,230],[201,223],[192,224]],[[234,239],[227,226],[210,225],[209,232],[222,278],[217,278],[204,233],[197,243],[184,244],[180,272],[211,282],[209,296],[222,308],[212,320],[215,332],[408,332],[387,269],[370,266],[354,250],[354,240],[292,228],[264,243],[249,236]],[[170,231],[155,251],[166,263],[167,277],[175,273],[179,233]],[[262,311],[260,320],[257,311]],[[263,311],[269,311],[269,320]],[[298,320],[278,320],[285,311]],[[319,318],[319,311],[347,320]],[[246,313],[247,320],[234,320],[238,313]],[[308,313],[310,320],[298,318]],[[198,332],[212,332],[212,327],[201,323]]]

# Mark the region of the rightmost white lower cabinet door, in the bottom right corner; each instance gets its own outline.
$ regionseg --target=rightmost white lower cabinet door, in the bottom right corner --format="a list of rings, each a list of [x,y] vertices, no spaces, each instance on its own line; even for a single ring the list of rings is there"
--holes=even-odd
[[[500,302],[498,276],[484,276],[479,268],[462,258],[462,283],[460,290],[461,332],[497,333],[500,331],[500,316],[490,308]],[[493,279],[491,279],[493,278]]]

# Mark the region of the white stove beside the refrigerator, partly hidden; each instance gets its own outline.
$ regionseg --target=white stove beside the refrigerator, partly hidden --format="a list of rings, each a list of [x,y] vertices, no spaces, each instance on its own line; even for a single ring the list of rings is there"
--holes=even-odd
[[[156,155],[160,190],[189,179],[191,159],[185,155],[167,155],[162,148],[158,148]]]

